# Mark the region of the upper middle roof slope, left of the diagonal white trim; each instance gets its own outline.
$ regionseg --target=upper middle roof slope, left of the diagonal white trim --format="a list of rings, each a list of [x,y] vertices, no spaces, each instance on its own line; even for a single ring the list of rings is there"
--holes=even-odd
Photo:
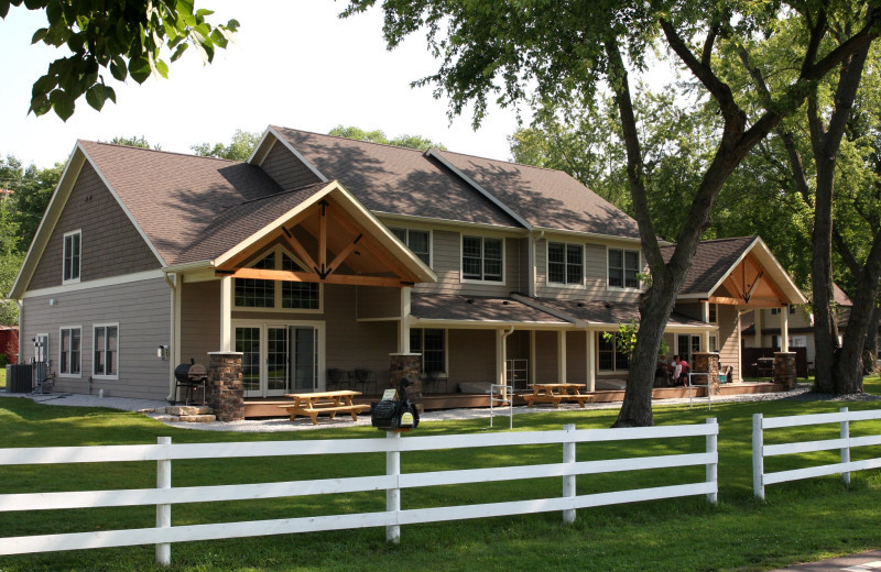
[[[423,151],[271,127],[374,212],[520,228]]]

